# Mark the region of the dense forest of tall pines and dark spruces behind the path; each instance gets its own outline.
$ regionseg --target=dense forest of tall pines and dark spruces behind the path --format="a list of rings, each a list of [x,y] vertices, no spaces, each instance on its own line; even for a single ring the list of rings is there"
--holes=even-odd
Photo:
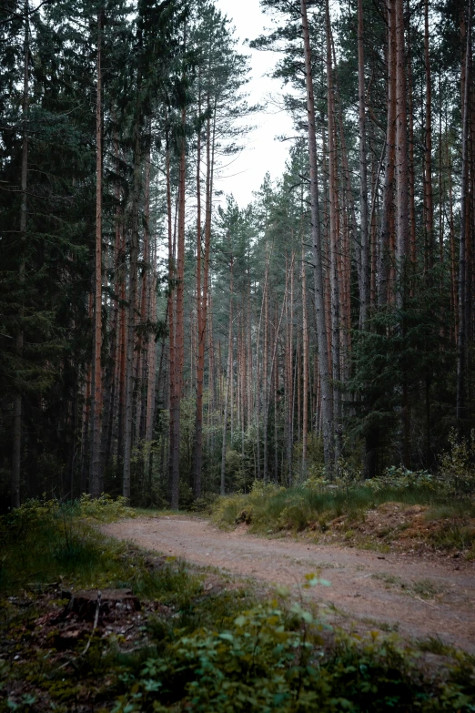
[[[295,134],[240,209],[248,59],[210,0],[2,4],[4,509],[437,470],[470,440],[471,0],[262,5]]]

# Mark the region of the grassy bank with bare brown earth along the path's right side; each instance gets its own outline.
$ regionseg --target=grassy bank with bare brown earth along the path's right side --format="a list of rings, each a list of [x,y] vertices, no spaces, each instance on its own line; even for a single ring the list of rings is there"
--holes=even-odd
[[[222,527],[245,523],[255,533],[308,529],[361,546],[409,537],[475,555],[474,501],[448,494],[430,474],[393,470],[377,481],[328,483],[318,478],[288,489],[257,483],[249,494],[219,498],[212,517]]]

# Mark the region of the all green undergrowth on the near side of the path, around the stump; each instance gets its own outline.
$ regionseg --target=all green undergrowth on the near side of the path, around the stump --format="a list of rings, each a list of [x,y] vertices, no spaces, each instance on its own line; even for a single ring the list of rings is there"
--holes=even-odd
[[[394,635],[332,629],[306,598],[328,585],[318,575],[268,601],[45,503],[1,521],[0,561],[1,713],[475,711],[473,658],[439,641],[409,649]],[[54,583],[131,588],[143,607],[136,639],[125,621],[115,637],[92,631],[86,650],[56,650],[48,615],[65,603],[45,594]],[[426,670],[427,656],[440,657],[443,676]]]

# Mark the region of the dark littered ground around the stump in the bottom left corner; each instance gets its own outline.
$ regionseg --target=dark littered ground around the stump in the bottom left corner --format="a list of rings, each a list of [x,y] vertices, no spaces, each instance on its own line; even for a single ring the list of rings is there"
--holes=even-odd
[[[109,709],[104,705],[113,677],[109,672],[92,676],[87,652],[105,650],[107,644],[121,652],[145,647],[150,643],[147,617],[155,611],[166,613],[152,602],[143,602],[137,610],[135,604],[128,606],[124,601],[124,591],[114,595],[104,590],[96,617],[97,590],[76,593],[83,596],[83,602],[90,599],[91,606],[75,611],[71,593],[60,585],[46,589],[38,593],[35,586],[32,592],[2,602],[6,631],[0,637],[2,698],[10,701],[11,708],[17,705],[35,713]],[[30,703],[24,706],[26,701]],[[1,702],[0,698],[0,706]]]

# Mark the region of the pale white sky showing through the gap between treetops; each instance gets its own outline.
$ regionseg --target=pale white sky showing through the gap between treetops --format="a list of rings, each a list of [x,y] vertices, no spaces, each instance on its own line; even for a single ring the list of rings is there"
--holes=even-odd
[[[247,90],[250,104],[267,105],[266,111],[250,119],[257,128],[245,139],[246,148],[223,170],[223,178],[217,188],[232,193],[240,208],[252,200],[252,192],[258,190],[266,172],[278,178],[288,157],[289,141],[280,142],[278,135],[291,136],[292,122],[288,114],[278,111],[268,97],[281,94],[280,82],[266,76],[276,65],[278,56],[273,52],[260,52],[244,44],[245,39],[255,39],[264,28],[271,26],[268,15],[261,12],[258,0],[216,0],[217,8],[227,15],[236,27],[240,40],[238,48],[250,55],[251,78]]]

